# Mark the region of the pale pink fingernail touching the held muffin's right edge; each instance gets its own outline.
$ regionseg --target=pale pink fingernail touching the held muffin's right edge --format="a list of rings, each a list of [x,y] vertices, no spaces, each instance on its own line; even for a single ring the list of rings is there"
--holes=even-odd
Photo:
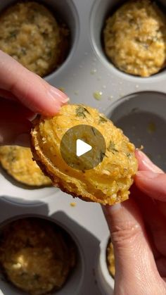
[[[136,156],[139,160],[141,160],[141,163],[139,164],[139,170],[151,170],[152,172],[155,173],[163,173],[163,171],[158,168],[153,162],[146,156],[145,153],[142,151],[136,150]]]

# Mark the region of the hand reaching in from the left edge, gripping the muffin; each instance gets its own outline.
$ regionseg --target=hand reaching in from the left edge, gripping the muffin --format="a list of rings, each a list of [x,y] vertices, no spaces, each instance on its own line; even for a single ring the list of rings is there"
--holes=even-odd
[[[34,114],[55,115],[68,96],[0,51],[0,145],[27,146]]]

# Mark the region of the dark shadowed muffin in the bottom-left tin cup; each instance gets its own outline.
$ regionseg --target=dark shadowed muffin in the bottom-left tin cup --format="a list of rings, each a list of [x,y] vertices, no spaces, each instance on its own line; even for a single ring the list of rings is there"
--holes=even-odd
[[[74,241],[48,220],[24,218],[1,230],[1,270],[8,282],[27,294],[50,294],[63,287],[76,256]]]

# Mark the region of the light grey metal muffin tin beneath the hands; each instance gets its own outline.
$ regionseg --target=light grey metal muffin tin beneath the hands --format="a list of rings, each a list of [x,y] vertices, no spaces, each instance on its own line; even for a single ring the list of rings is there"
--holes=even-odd
[[[0,10],[12,2],[1,0]],[[72,35],[68,58],[45,80],[63,89],[72,103],[84,103],[98,108],[117,125],[124,125],[125,133],[135,141],[136,146],[143,144],[153,161],[165,169],[166,70],[148,78],[127,75],[108,62],[101,45],[101,30],[106,16],[124,1],[40,2],[60,14]],[[164,0],[160,2],[165,5]],[[148,116],[145,116],[145,112]],[[99,244],[109,235],[101,206],[72,199],[53,187],[23,187],[11,181],[2,170],[0,194],[0,223],[24,215],[51,218],[77,242],[80,268],[76,270],[71,282],[56,294],[106,295],[111,294],[111,290],[113,292],[112,282],[108,282],[108,289],[103,286],[103,280],[107,280],[103,268],[99,271],[102,275],[98,275],[98,251],[102,248]],[[0,281],[0,289],[0,294],[3,295],[18,294],[3,280]]]

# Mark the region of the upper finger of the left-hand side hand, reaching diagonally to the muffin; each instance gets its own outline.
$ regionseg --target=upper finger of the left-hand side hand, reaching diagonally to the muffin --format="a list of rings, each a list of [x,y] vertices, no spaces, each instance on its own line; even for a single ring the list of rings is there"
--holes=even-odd
[[[55,115],[68,96],[0,51],[0,88],[11,92],[34,113]]]

